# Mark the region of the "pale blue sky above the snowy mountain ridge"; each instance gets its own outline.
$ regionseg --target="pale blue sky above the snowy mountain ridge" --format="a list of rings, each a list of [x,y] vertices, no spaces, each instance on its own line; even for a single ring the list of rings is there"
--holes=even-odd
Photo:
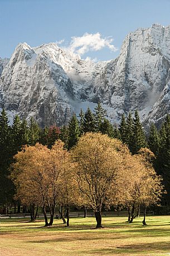
[[[0,0],[0,10],[1,58],[23,41],[37,46],[65,40],[82,58],[108,60],[118,56],[129,32],[153,23],[170,25],[170,0]],[[104,44],[79,51],[89,38]]]

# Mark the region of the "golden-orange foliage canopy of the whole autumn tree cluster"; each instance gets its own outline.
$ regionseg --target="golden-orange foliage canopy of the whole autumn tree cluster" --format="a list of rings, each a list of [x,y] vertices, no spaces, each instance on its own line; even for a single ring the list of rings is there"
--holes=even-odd
[[[157,203],[163,187],[152,167],[147,148],[132,156],[118,139],[86,133],[71,152],[56,141],[51,150],[36,144],[14,157],[12,178],[22,202],[84,204],[97,210],[102,204]]]

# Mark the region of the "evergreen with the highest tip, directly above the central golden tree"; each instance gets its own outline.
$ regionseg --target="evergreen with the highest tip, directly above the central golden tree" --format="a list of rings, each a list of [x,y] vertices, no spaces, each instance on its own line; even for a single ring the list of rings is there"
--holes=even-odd
[[[106,110],[102,108],[101,103],[98,103],[97,106],[94,108],[94,117],[96,123],[96,132],[101,132],[101,123],[103,122],[104,118],[106,117]]]

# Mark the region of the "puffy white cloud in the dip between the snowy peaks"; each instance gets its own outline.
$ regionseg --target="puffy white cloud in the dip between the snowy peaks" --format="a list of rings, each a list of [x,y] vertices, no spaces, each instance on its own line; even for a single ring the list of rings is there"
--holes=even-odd
[[[69,46],[66,48],[80,56],[89,51],[98,51],[103,48],[109,48],[111,52],[118,50],[113,44],[113,39],[109,36],[103,38],[98,32],[96,34],[85,33],[82,36],[72,36]],[[64,43],[64,40],[57,42],[58,44]]]

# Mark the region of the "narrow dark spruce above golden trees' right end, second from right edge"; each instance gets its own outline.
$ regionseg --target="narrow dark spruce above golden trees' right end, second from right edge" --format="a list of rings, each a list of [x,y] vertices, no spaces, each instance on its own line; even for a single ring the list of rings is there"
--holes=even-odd
[[[158,155],[159,150],[159,135],[156,126],[152,123],[150,125],[150,132],[148,137],[148,146],[154,155]]]

